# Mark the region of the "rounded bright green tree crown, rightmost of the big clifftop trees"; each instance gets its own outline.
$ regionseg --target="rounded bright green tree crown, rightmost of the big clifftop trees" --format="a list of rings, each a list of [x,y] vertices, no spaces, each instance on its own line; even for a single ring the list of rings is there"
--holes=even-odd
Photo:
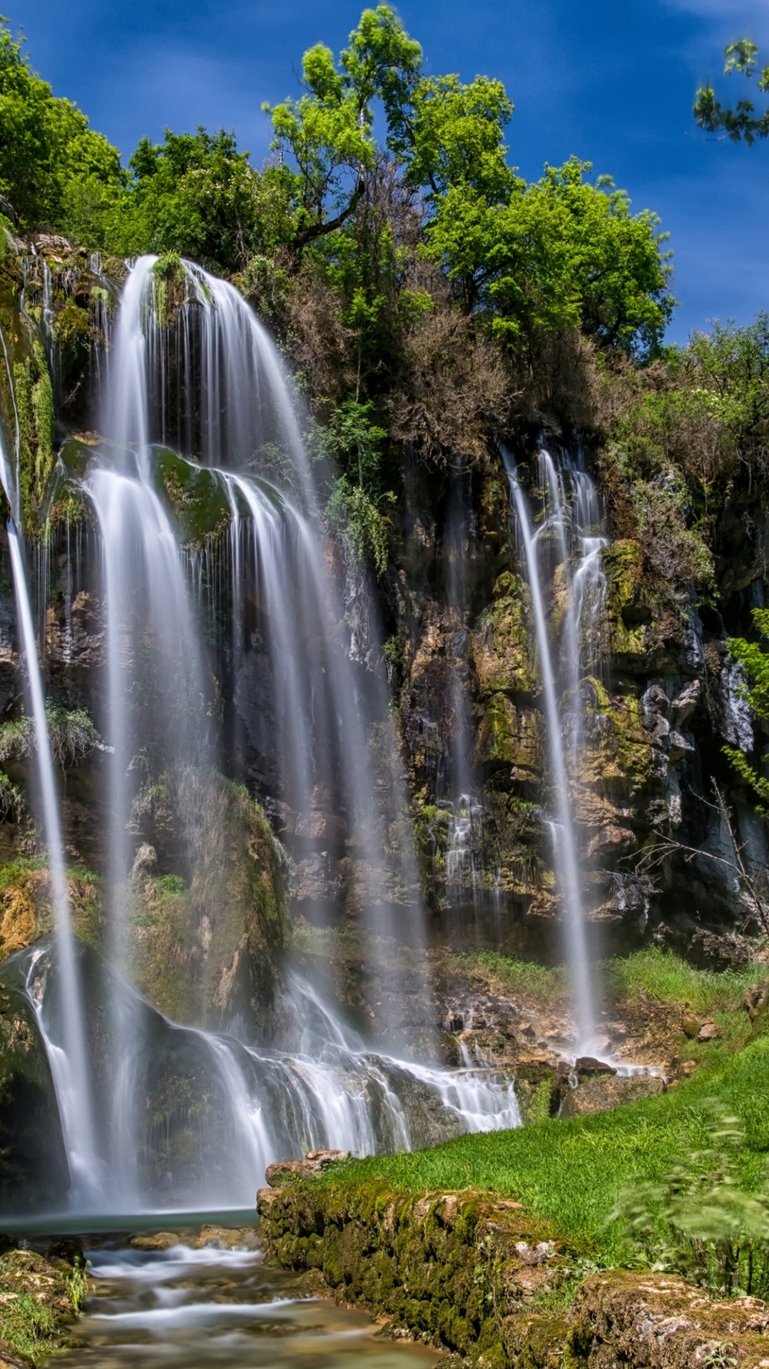
[[[653,353],[673,309],[664,234],[608,177],[586,181],[588,170],[576,157],[546,167],[504,204],[454,183],[435,197],[427,251],[498,337],[582,329],[601,346]]]

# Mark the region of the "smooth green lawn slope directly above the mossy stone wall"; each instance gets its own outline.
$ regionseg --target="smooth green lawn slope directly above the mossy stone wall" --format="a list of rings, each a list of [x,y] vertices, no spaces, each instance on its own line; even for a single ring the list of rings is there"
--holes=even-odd
[[[621,1231],[608,1218],[620,1191],[662,1179],[681,1153],[706,1143],[706,1099],[717,1097],[746,1128],[738,1173],[758,1187],[769,1149],[769,1038],[754,1039],[716,1069],[660,1098],[571,1121],[461,1136],[432,1150],[352,1161],[322,1183],[359,1186],[378,1177],[398,1191],[494,1188],[549,1218],[577,1247],[610,1265]]]

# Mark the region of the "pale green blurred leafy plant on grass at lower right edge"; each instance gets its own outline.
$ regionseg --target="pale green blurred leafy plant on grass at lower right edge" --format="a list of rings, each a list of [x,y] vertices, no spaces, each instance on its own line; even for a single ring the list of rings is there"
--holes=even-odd
[[[739,1186],[744,1144],[739,1117],[717,1099],[705,1105],[701,1150],[681,1153],[661,1181],[625,1190],[610,1214],[655,1269],[675,1270],[713,1292],[769,1292],[769,1195]]]

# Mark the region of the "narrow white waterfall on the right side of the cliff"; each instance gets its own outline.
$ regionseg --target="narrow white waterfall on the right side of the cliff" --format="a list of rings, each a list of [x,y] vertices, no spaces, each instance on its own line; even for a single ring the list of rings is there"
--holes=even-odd
[[[535,533],[528,504],[517,478],[516,465],[508,453],[504,453],[504,459],[516,512],[516,527],[523,550],[525,575],[531,590],[547,731],[549,771],[556,799],[556,810],[547,820],[547,828],[553,842],[564,909],[566,956],[573,979],[576,1043],[577,1051],[580,1051],[590,1046],[590,1040],[595,1034],[597,1008],[587,949],[582,869],[569,794],[564,724],[568,709],[571,711],[568,720],[572,730],[571,760],[576,773],[583,735],[580,702],[583,667],[594,668],[599,657],[601,608],[605,597],[601,549],[605,546],[605,538],[590,535],[595,533],[601,519],[592,482],[584,472],[573,472],[575,501],[573,509],[569,509],[561,474],[557,471],[550,453],[545,449],[540,450],[540,491],[547,517]],[[575,541],[579,541],[582,545],[576,568],[569,574],[569,528],[572,524]],[[545,608],[545,583],[539,545],[543,534],[556,538],[558,564],[564,567],[564,574],[568,576],[566,609],[561,642],[564,661],[561,691],[558,691],[558,671],[554,663]],[[565,706],[560,701],[560,693],[565,694]]]

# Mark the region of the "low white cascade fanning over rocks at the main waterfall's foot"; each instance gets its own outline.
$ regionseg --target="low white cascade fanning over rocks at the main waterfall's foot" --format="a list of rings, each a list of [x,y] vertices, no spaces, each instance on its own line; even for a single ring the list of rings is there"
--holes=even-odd
[[[131,1124],[134,1149],[127,1183],[105,1142],[104,1186],[97,1194],[78,1194],[75,1210],[248,1207],[255,1184],[275,1160],[298,1160],[324,1147],[356,1155],[413,1150],[521,1124],[509,1073],[469,1057],[464,1068],[442,1071],[374,1050],[301,976],[287,976],[279,1005],[282,1042],[275,1049],[179,1027],[108,967],[94,964],[93,953],[81,949],[79,958],[89,1012],[119,1023],[122,1039],[130,1039],[123,1082],[130,1073],[133,1112],[123,1121]],[[14,960],[36,1008],[62,1106],[64,1076],[56,1069],[66,1051],[57,960],[45,943]],[[109,1014],[115,999],[120,1013]],[[109,1091],[116,1088],[115,1079],[100,1082],[100,1102],[111,1112]],[[168,1116],[167,1099],[177,1095],[183,1108],[177,1105]],[[66,1127],[64,1139],[68,1146]]]

